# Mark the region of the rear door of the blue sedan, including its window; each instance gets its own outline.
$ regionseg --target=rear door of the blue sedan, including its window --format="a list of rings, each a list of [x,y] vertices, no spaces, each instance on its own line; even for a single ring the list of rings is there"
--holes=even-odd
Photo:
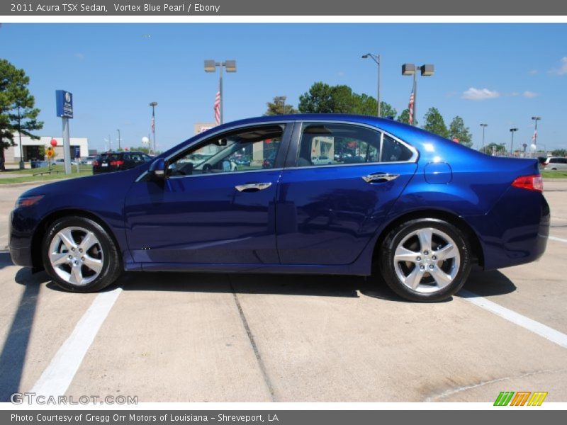
[[[417,151],[352,123],[296,124],[294,139],[276,204],[280,261],[352,263],[415,174]]]

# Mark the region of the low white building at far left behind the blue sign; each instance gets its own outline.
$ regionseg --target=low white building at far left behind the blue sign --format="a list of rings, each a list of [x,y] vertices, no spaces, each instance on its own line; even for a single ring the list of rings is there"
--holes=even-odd
[[[45,157],[40,156],[40,148],[51,146],[51,140],[57,141],[55,147],[55,158],[62,159],[63,156],[63,137],[40,136],[39,140],[22,135],[22,146],[20,150],[20,137],[18,132],[13,135],[13,142],[16,146],[11,146],[4,151],[6,162],[20,162],[20,152],[23,154],[23,161],[43,160]],[[89,139],[87,137],[69,137],[69,153],[72,158],[84,158],[89,156]]]

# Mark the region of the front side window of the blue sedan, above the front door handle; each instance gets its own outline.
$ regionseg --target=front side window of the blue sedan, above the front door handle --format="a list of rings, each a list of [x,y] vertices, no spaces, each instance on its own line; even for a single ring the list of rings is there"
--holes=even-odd
[[[274,168],[284,125],[227,132],[189,148],[168,165],[171,177]]]

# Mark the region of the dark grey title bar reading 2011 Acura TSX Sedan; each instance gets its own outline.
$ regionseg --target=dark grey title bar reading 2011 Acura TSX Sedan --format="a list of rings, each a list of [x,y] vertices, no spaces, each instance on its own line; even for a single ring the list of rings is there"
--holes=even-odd
[[[566,16],[567,2],[556,0],[218,0],[189,3],[91,0],[1,2],[3,16]]]

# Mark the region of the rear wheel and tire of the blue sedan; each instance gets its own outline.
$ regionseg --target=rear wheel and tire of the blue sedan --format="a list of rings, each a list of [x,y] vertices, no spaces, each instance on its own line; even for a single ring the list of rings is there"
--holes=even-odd
[[[433,218],[410,220],[383,241],[380,271],[400,297],[417,302],[446,300],[471,271],[471,246],[460,229]]]

